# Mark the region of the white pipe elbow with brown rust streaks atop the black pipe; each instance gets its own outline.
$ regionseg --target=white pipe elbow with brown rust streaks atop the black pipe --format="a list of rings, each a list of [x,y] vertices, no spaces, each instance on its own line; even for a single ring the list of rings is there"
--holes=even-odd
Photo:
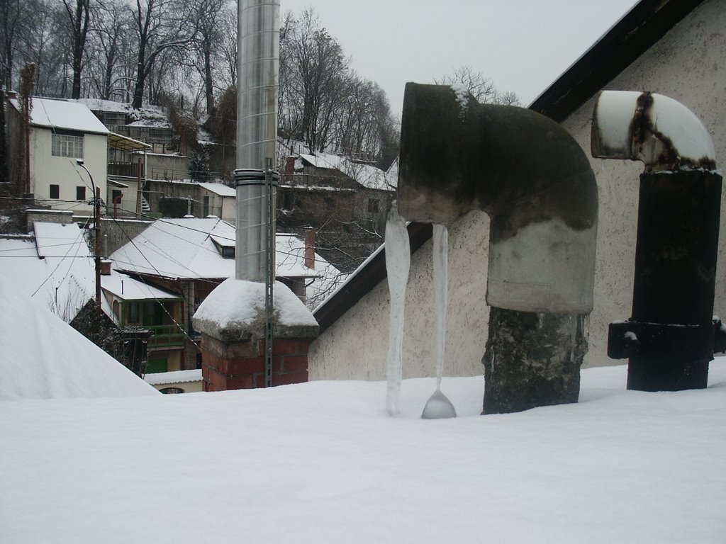
[[[592,114],[592,156],[640,160],[646,172],[714,170],[714,144],[677,100],[640,91],[601,91]]]

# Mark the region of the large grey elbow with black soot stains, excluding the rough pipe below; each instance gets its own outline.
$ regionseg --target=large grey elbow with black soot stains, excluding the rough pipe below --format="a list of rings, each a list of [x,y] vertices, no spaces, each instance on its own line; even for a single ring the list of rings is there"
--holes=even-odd
[[[407,83],[398,201],[409,221],[489,214],[489,305],[592,310],[597,186],[582,148],[558,123],[479,104],[460,88]]]

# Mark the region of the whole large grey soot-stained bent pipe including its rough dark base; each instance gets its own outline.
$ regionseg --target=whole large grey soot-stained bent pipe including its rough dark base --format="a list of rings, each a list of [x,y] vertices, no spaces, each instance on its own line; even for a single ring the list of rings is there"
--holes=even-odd
[[[408,221],[471,210],[491,220],[484,413],[577,402],[597,237],[597,186],[579,144],[531,110],[407,83],[400,157]]]

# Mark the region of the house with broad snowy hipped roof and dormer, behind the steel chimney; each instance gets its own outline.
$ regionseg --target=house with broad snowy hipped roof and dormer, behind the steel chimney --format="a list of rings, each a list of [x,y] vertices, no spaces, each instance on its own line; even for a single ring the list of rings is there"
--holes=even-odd
[[[118,271],[182,298],[184,353],[180,368],[167,363],[166,370],[199,368],[192,316],[215,287],[234,278],[235,239],[234,226],[219,218],[163,219],[109,256]],[[322,302],[343,281],[344,275],[317,255],[311,244],[289,234],[277,234],[276,242],[277,279],[303,302]]]

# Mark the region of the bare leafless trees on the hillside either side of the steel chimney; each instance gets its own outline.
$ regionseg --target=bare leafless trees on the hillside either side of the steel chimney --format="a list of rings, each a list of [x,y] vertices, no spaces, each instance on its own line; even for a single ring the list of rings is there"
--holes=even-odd
[[[32,63],[35,96],[161,106],[192,147],[198,128],[234,144],[234,1],[3,0],[0,38],[0,88],[17,90]],[[386,93],[351,70],[312,9],[282,15],[279,104],[280,136],[312,152],[382,168],[396,157],[398,121]]]

